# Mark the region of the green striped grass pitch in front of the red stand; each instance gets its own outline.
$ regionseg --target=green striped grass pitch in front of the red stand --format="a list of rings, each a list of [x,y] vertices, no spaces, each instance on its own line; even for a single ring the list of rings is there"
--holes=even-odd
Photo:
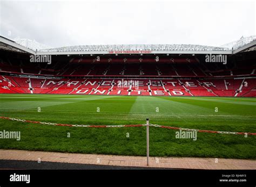
[[[197,130],[256,132],[256,98],[0,95],[0,116],[83,125],[166,125]],[[85,128],[0,119],[0,131],[20,131],[21,140],[0,139],[1,149],[146,155],[146,127]],[[256,159],[256,136],[197,133],[150,127],[150,156]]]

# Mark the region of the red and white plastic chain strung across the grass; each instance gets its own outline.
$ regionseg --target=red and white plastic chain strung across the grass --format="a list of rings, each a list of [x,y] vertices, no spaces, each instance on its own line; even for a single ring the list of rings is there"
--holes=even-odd
[[[69,127],[113,128],[113,127],[142,127],[142,126],[146,126],[146,124],[137,124],[137,125],[71,125],[71,124],[46,123],[46,122],[41,122],[41,121],[31,121],[31,120],[16,119],[16,118],[9,118],[9,117],[2,117],[2,116],[0,116],[0,118],[12,120],[12,121],[22,121],[22,122],[33,123],[33,124],[69,126]],[[195,131],[195,132],[205,132],[205,133],[256,135],[256,133],[208,131],[208,130],[197,130],[197,129],[191,129],[191,128],[171,127],[171,126],[165,126],[165,125],[149,124],[149,126],[167,128],[167,129],[172,129],[172,130]]]

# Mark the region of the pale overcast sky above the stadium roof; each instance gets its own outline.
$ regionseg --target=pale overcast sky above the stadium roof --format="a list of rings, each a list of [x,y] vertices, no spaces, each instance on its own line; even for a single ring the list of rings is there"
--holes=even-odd
[[[52,47],[220,46],[255,35],[255,1],[2,1],[0,34]]]

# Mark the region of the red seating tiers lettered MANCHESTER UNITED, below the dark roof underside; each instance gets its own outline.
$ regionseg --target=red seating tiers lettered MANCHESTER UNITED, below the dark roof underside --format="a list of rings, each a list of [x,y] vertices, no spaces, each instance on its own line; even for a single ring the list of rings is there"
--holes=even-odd
[[[156,63],[153,59],[147,59],[146,63],[134,63],[136,60],[132,58],[131,63],[123,64],[117,62],[122,61],[120,59],[112,64],[95,64],[92,59],[89,60],[92,62],[80,59],[83,63],[76,64],[79,60],[74,59],[72,63],[64,64],[65,68],[62,69],[1,63],[1,71],[8,71],[11,76],[1,76],[0,91],[78,95],[255,97],[253,63],[251,67],[246,68],[239,64],[240,69],[237,69],[238,66],[233,69],[221,69],[217,64],[206,66],[196,60],[186,62],[186,59],[180,58],[171,59],[169,63],[165,63],[167,59],[161,63]],[[129,58],[124,61],[129,61]],[[152,63],[149,63],[150,61]],[[178,64],[175,61],[178,61]],[[22,71],[18,71],[17,67],[21,67],[19,70]],[[47,77],[49,73],[52,74],[50,78]],[[245,78],[246,75],[250,77]],[[133,84],[130,81],[133,81]]]

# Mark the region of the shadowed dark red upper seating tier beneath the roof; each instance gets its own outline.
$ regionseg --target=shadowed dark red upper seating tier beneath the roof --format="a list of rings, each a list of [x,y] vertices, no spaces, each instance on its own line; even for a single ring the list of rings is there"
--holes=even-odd
[[[238,77],[255,76],[255,62],[248,63],[203,63],[196,57],[95,57],[75,58],[69,61],[29,63],[0,59],[0,73],[50,76],[159,76],[159,77]]]

